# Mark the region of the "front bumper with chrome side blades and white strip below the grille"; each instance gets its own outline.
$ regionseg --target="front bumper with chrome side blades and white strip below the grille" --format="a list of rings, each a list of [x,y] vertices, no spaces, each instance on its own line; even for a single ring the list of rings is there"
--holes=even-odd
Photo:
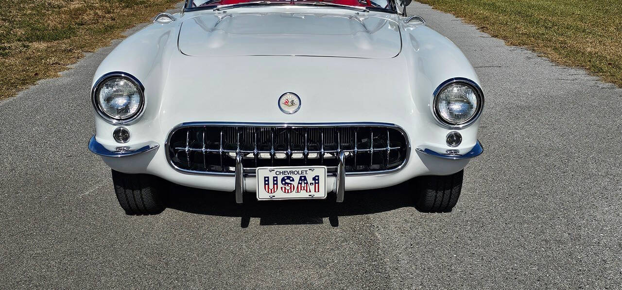
[[[165,150],[157,142],[141,143],[139,146],[116,150],[101,144],[93,136],[89,143],[91,152],[102,156],[106,165],[124,173],[146,173],[159,176],[173,183],[193,188],[217,191],[234,191],[236,201],[242,202],[243,192],[256,192],[257,179],[253,174],[243,174],[241,163],[236,163],[235,176],[205,176],[180,173],[170,166]],[[134,149],[136,148],[136,149]],[[338,166],[337,174],[327,176],[328,191],[337,193],[338,201],[343,201],[345,191],[375,189],[402,183],[416,176],[448,175],[456,173],[468,164],[468,161],[480,155],[483,148],[476,141],[473,148],[463,155],[447,155],[419,145],[411,151],[408,162],[399,171],[364,176],[346,176],[343,166]],[[241,159],[236,158],[241,161]]]

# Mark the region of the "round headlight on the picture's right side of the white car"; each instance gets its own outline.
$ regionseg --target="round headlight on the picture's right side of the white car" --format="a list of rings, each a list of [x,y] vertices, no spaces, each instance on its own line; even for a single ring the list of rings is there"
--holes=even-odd
[[[434,114],[445,125],[462,127],[477,119],[482,105],[480,89],[466,81],[454,81],[436,94]]]

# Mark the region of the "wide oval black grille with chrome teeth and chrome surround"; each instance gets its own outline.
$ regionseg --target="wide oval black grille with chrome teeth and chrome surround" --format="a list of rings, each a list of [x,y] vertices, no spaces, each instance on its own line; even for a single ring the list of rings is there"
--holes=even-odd
[[[406,163],[406,134],[391,124],[209,124],[189,123],[169,134],[170,165],[195,174],[235,172],[242,156],[244,173],[262,166],[327,166],[337,171],[345,154],[346,174],[381,173]]]

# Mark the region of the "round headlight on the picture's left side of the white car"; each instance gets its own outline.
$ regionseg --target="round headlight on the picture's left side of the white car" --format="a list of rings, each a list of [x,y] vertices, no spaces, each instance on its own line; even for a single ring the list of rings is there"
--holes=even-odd
[[[129,122],[144,106],[142,87],[126,76],[108,76],[96,85],[93,104],[105,119],[114,123]]]

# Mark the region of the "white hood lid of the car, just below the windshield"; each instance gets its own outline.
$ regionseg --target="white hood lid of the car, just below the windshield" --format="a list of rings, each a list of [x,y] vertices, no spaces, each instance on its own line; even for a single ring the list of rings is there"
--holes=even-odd
[[[179,33],[180,52],[196,57],[392,58],[401,47],[393,20],[343,14],[208,14],[184,20]]]

